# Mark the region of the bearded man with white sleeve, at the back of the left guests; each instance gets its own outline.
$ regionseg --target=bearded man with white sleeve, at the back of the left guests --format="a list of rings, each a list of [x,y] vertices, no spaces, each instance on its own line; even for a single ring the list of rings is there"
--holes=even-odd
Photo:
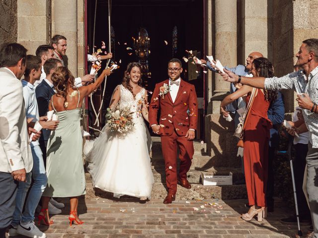
[[[52,47],[54,48],[54,58],[61,61],[62,65],[68,67],[68,58],[66,56],[67,50],[67,40],[64,36],[55,35],[51,40]],[[81,87],[94,80],[95,76],[93,74],[86,74],[82,77],[75,78],[74,85],[76,87]]]

